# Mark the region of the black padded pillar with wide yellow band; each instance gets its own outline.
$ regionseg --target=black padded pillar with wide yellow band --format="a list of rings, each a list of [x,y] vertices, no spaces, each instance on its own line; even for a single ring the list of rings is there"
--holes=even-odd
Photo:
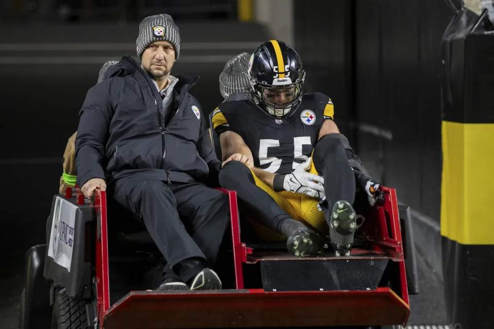
[[[457,13],[442,44],[443,273],[462,329],[494,327],[494,34],[473,15]]]

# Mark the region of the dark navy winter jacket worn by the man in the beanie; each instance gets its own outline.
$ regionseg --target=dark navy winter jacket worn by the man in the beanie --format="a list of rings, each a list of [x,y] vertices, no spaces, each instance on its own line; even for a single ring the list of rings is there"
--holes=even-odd
[[[76,138],[79,186],[95,177],[112,180],[131,174],[168,182],[201,181],[209,171],[217,176],[220,162],[205,118],[199,102],[188,94],[198,78],[177,78],[168,119],[151,78],[130,56],[89,89]]]

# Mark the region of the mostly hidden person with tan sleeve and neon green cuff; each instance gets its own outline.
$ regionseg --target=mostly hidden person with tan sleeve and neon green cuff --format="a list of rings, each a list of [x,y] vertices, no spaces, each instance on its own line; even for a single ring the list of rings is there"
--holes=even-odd
[[[107,72],[108,68],[118,63],[117,61],[108,61],[101,66],[98,73],[98,82],[100,83],[104,79],[104,74]],[[65,189],[67,187],[73,188],[76,185],[76,153],[75,153],[75,141],[77,132],[72,134],[67,141],[67,146],[65,147],[65,152],[63,153],[63,172],[60,177],[60,188],[59,193],[65,194]]]

